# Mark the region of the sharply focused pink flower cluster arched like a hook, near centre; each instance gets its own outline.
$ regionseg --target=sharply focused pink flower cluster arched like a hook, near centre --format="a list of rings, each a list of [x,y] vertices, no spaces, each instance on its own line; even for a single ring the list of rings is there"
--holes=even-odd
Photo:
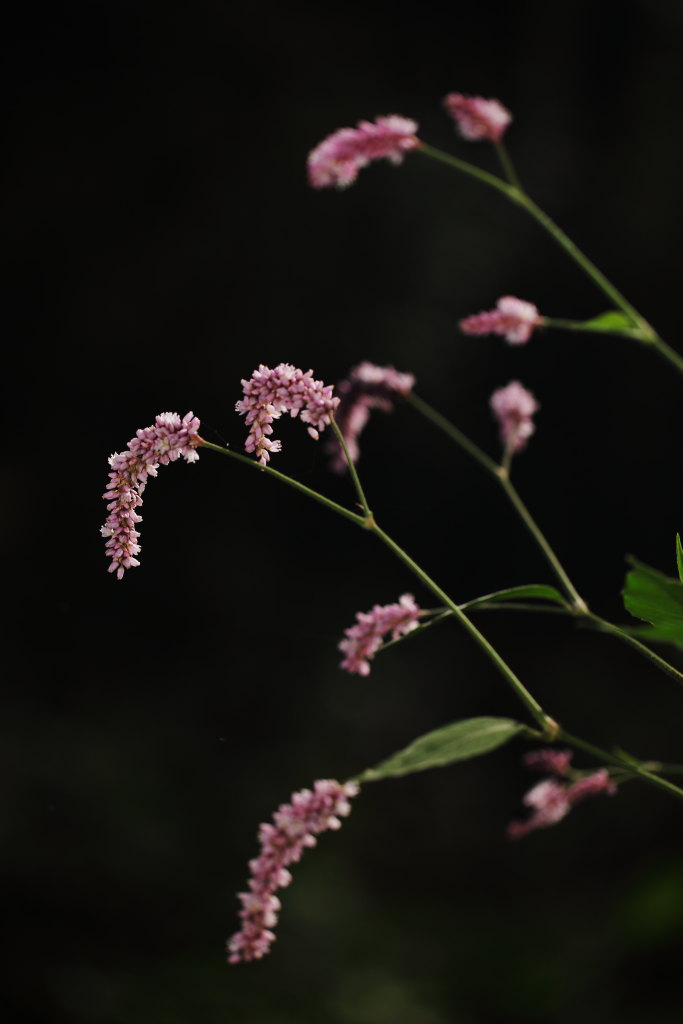
[[[262,466],[270,461],[271,452],[282,450],[281,441],[270,440],[271,423],[283,413],[298,416],[308,424],[308,433],[317,440],[319,430],[330,423],[339,398],[332,393],[332,385],[313,380],[313,371],[298,370],[289,362],[281,362],[274,370],[263,364],[249,380],[243,380],[244,398],[236,404],[238,413],[247,417],[249,435],[245,449],[254,453]]]

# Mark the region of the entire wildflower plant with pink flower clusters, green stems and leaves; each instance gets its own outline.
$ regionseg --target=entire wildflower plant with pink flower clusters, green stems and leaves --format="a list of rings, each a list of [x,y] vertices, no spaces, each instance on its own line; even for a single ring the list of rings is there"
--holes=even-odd
[[[478,141],[495,147],[502,176],[482,170],[460,156],[434,148],[419,137],[415,121],[390,115],[377,118],[375,122],[361,121],[355,128],[341,128],[315,146],[308,158],[310,185],[313,188],[346,188],[371,162],[388,160],[399,164],[408,156],[414,159],[413,154],[438,161],[477,179],[525,211],[546,230],[588,275],[611,308],[588,321],[557,319],[542,315],[537,306],[525,299],[504,296],[488,311],[462,316],[462,334],[470,337],[498,335],[512,345],[529,342],[537,331],[611,334],[638,342],[667,359],[672,369],[683,373],[683,356],[659,337],[523,189],[503,141],[512,122],[510,112],[497,99],[461,93],[447,95],[443,106],[465,144]],[[454,337],[455,334],[454,330]],[[281,908],[275,894],[289,885],[290,867],[306,849],[315,845],[318,836],[340,827],[350,811],[350,801],[358,797],[364,785],[455,764],[487,754],[512,740],[520,740],[536,744],[523,756],[523,763],[529,771],[541,773],[543,777],[523,797],[524,816],[507,826],[511,840],[520,840],[530,833],[556,825],[578,804],[589,798],[614,796],[631,780],[640,780],[670,797],[683,799],[683,788],[673,780],[683,773],[683,766],[637,759],[620,749],[607,750],[592,738],[578,735],[571,724],[568,727],[565,723],[560,724],[552,710],[541,705],[475,621],[480,611],[492,608],[507,609],[511,613],[552,611],[567,616],[577,625],[618,639],[680,685],[683,673],[652,646],[666,643],[683,648],[683,546],[680,539],[676,538],[678,578],[665,575],[633,560],[624,589],[625,608],[632,616],[629,625],[618,625],[596,614],[579,593],[512,482],[514,461],[522,456],[537,429],[535,418],[541,408],[537,396],[516,380],[502,384],[490,395],[490,411],[498,423],[501,441],[500,456],[493,457],[418,393],[414,370],[415,367],[410,367],[398,371],[366,360],[352,368],[334,388],[316,379],[312,370],[303,371],[287,362],[273,369],[261,365],[242,381],[242,397],[237,400],[237,412],[245,418],[247,426],[246,440],[239,441],[237,446],[244,447],[246,454],[203,437],[200,421],[191,413],[182,419],[174,413],[163,413],[153,426],[137,431],[126,451],[110,460],[112,471],[104,493],[108,516],[102,535],[111,560],[110,571],[119,580],[127,570],[139,565],[136,527],[140,516],[136,510],[142,503],[140,496],[148,477],[157,474],[159,466],[181,458],[196,462],[200,450],[214,452],[286,483],[327,512],[342,516],[372,535],[402,564],[407,581],[410,579],[413,585],[419,586],[416,596],[403,593],[394,603],[376,604],[369,611],[356,612],[354,624],[343,630],[338,643],[343,655],[341,670],[367,677],[371,662],[387,647],[417,641],[431,627],[450,622],[464,630],[479,647],[482,657],[493,663],[501,682],[513,692],[519,705],[519,719],[480,716],[453,722],[416,738],[371,768],[362,770],[359,766],[357,773],[346,781],[317,780],[312,788],[295,793],[288,803],[281,805],[272,821],[261,824],[258,831],[260,852],[249,864],[247,889],[239,896],[242,905],[240,928],[228,943],[231,964],[259,959],[269,950]],[[481,396],[481,401],[485,401],[485,396]],[[510,509],[546,559],[554,577],[552,585],[521,580],[513,588],[456,601],[444,582],[437,582],[428,574],[383,529],[373,514],[356,464],[360,457],[361,433],[371,413],[380,410],[388,414],[397,402],[403,402],[415,415],[426,418],[502,488]],[[348,476],[350,497],[347,504],[333,501],[270,465],[271,456],[282,447],[280,440],[273,438],[273,424],[285,414],[298,418],[313,442],[326,432],[324,451],[329,456],[330,469]],[[590,729],[590,723],[588,727]],[[583,733],[581,723],[578,728]],[[574,765],[577,753],[590,762],[587,767]]]

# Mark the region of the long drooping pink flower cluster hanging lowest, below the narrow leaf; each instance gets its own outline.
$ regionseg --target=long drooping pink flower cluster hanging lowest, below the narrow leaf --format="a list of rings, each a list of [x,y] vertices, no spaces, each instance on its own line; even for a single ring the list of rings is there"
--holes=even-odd
[[[312,791],[301,790],[293,794],[290,804],[282,804],[272,816],[273,824],[259,827],[261,851],[249,862],[249,892],[238,893],[242,929],[227,944],[228,963],[260,959],[268,952],[280,910],[275,892],[292,881],[288,866],[315,846],[321,833],[341,827],[340,818],[350,813],[349,800],[357,793],[354,782],[318,779]]]

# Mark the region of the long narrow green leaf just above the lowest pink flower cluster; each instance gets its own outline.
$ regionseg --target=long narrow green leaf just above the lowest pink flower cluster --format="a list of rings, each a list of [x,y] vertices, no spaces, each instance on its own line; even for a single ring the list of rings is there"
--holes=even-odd
[[[420,736],[375,768],[369,768],[360,775],[360,781],[412,775],[426,768],[468,761],[495,751],[523,731],[525,726],[510,718],[466,718],[462,722],[452,722]]]

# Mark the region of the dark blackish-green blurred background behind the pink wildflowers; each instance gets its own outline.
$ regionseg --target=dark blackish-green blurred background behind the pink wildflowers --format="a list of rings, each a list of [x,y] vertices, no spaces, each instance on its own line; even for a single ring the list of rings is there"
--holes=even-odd
[[[680,349],[681,5],[105,0],[27,2],[8,23],[12,1019],[679,1021],[679,806],[633,783],[511,845],[532,781],[519,744],[368,787],[299,865],[271,955],[224,966],[257,823],[293,790],[520,709],[451,626],[369,679],[340,672],[356,610],[430,599],[372,538],[212,453],[153,481],[142,565],[122,583],[98,526],[108,455],[157,413],[193,409],[241,449],[233,403],[259,361],[330,383],[392,362],[492,454],[488,395],[519,377],[543,411],[518,486],[591,605],[626,617],[626,553],[675,572],[680,378],[618,339],[460,336],[501,294],[557,316],[607,303],[521,212],[444,167],[414,156],[314,193],[304,159],[400,113],[495,169],[439,100],[500,97],[531,194]],[[281,436],[279,468],[352,501],[298,424]],[[377,414],[359,468],[378,519],[455,598],[551,582],[493,481],[410,409]],[[479,623],[567,728],[682,760],[681,692],[637,654],[550,616]]]

